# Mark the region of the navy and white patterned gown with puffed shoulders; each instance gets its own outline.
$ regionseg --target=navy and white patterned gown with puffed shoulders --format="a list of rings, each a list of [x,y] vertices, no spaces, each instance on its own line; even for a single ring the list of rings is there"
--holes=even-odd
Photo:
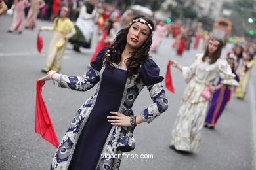
[[[108,48],[103,48],[96,61],[83,77],[60,75],[58,85],[62,88],[86,91],[95,86],[96,93],[80,107],[66,131],[53,158],[51,169],[119,169],[121,159],[102,158],[101,154],[121,154],[135,148],[133,128],[112,126],[107,116],[110,111],[133,115],[131,107],[144,86],[148,87],[153,103],[141,112],[145,122],[167,110],[168,101],[161,85],[163,77],[152,59],[140,68],[140,82],[126,78],[127,69],[113,64],[106,67],[102,57]]]

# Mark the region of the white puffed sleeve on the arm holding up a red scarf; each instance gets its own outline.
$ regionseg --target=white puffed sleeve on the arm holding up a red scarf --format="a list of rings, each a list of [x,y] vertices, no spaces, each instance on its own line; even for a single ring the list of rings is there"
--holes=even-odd
[[[189,67],[182,67],[182,75],[186,83],[190,82],[190,80],[194,77],[196,73],[196,67],[200,62],[202,62],[202,57],[203,54],[196,54],[192,65],[190,65]]]

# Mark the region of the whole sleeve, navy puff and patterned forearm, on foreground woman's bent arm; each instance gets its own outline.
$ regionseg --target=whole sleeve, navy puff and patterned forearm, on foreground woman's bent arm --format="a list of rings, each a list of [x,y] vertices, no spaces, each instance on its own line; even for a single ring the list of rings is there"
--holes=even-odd
[[[161,84],[163,77],[159,75],[159,68],[153,60],[149,59],[142,65],[141,78],[148,87],[153,103],[144,109],[140,116],[145,122],[150,123],[168,109],[168,99]]]

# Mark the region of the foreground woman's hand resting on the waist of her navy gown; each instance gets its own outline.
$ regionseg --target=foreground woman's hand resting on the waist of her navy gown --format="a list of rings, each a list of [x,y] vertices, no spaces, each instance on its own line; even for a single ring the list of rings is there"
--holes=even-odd
[[[131,118],[129,116],[125,116],[119,112],[110,112],[111,114],[114,114],[115,116],[107,116],[109,119],[108,122],[112,125],[116,126],[131,126],[130,120]]]

